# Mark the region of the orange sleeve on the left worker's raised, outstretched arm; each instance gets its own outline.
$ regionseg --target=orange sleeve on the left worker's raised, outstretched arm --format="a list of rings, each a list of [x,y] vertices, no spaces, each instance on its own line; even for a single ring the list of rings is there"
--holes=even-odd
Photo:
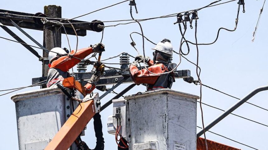
[[[93,52],[92,47],[79,49],[77,50],[76,53],[75,53],[75,50],[72,50],[69,54],[72,55],[75,53],[73,57],[62,56],[59,59],[53,61],[51,63],[50,68],[56,68],[56,69],[60,69],[61,71],[66,72],[72,67],[74,67],[76,64],[78,64],[81,61],[79,59],[84,59],[85,57],[90,55],[92,52]],[[79,59],[74,58],[74,57],[77,57]]]

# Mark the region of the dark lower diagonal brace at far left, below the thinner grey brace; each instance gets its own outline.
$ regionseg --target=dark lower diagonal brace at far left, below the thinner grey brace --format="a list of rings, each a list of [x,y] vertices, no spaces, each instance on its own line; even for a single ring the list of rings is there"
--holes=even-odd
[[[18,42],[20,42],[25,48],[27,48],[31,53],[33,53],[36,57],[42,58],[36,50],[34,50],[31,46],[27,45],[21,38],[19,38],[14,32],[12,32],[7,26],[3,25],[0,22],[0,27],[4,29],[8,34],[10,34],[14,39],[16,39]],[[25,44],[23,44],[25,43]]]

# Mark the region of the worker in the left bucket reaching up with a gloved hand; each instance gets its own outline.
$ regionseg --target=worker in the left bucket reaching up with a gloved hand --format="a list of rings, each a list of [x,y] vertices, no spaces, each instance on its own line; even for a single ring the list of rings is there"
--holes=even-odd
[[[91,45],[88,48],[79,49],[77,52],[75,52],[75,50],[72,50],[70,53],[62,48],[52,48],[51,52],[48,54],[49,71],[47,75],[46,86],[53,87],[58,83],[62,83],[65,78],[70,77],[68,70],[78,64],[81,61],[79,59],[84,59],[93,52],[100,53],[103,51],[105,50],[102,43],[98,43],[93,46]],[[87,94],[91,93],[93,89],[95,89],[94,83],[99,80],[99,77],[100,73],[98,73],[98,71],[92,75],[91,79],[88,81],[88,84],[85,85]]]

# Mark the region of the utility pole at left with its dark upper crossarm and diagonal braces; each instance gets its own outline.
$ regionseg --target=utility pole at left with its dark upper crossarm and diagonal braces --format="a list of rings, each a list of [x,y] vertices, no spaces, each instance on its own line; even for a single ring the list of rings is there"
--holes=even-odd
[[[48,5],[44,7],[44,14],[37,12],[36,14],[30,14],[25,12],[17,12],[17,11],[9,11],[0,9],[0,27],[5,30],[8,34],[10,34],[15,40],[22,43],[22,45],[27,48],[32,54],[38,57],[39,61],[42,61],[42,77],[40,81],[44,81],[47,78],[48,74],[48,52],[43,50],[43,57],[41,57],[35,48],[27,45],[18,35],[16,35],[12,30],[10,30],[7,26],[15,26],[18,30],[20,30],[23,34],[25,34],[29,39],[31,39],[34,43],[36,43],[40,48],[46,48],[51,50],[55,47],[61,47],[61,34],[69,34],[69,35],[78,35],[78,36],[86,36],[87,30],[94,32],[101,32],[103,29],[99,28],[99,25],[104,25],[102,21],[93,20],[92,22],[80,21],[80,20],[72,20],[70,19],[70,23],[74,23],[73,25],[66,24],[65,30],[62,30],[61,25],[55,24],[52,22],[46,22],[45,25],[41,21],[44,17],[47,20],[53,20],[57,22],[65,23],[66,19],[62,19],[61,17],[61,7],[56,5]],[[51,18],[51,19],[50,19]],[[39,30],[43,31],[43,46],[38,43],[35,39],[33,39],[29,34],[23,31],[22,28]],[[73,29],[74,28],[74,29]],[[75,30],[75,31],[74,31]],[[42,86],[45,88],[46,86]]]

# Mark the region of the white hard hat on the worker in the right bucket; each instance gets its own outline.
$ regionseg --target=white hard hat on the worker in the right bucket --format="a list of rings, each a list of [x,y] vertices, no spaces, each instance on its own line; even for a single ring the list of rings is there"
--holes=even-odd
[[[161,42],[157,43],[155,48],[152,49],[168,54],[168,56],[172,56],[173,53],[172,45],[168,39],[163,39]]]

